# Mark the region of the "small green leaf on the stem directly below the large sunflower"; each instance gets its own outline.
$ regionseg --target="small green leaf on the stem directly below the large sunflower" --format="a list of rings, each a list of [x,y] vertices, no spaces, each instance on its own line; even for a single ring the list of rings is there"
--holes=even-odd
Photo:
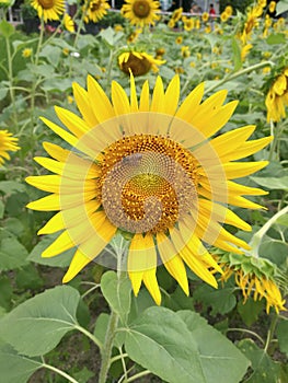
[[[120,278],[118,282],[116,272],[105,272],[101,278],[101,291],[113,311],[119,315],[125,324],[131,304],[131,283],[128,277]]]

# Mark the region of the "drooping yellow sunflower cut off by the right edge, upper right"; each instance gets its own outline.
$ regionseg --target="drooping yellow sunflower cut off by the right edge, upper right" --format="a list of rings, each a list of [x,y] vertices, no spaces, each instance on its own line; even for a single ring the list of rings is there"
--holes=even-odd
[[[273,82],[265,100],[267,121],[277,123],[286,117],[285,107],[288,106],[288,68]]]

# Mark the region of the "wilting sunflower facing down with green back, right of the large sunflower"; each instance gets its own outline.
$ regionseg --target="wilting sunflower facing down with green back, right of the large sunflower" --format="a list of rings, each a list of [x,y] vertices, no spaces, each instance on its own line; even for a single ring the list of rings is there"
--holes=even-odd
[[[253,297],[254,301],[264,298],[267,314],[270,307],[274,307],[277,313],[286,310],[285,300],[275,280],[276,268],[268,259],[251,255],[228,254],[220,256],[218,260],[223,270],[221,280],[227,281],[234,276],[235,283],[242,290],[243,303],[249,297]]]

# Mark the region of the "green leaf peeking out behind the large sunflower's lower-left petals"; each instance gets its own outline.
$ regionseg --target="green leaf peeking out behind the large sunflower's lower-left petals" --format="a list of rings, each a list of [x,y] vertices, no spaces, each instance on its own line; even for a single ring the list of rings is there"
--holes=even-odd
[[[56,235],[45,235],[44,239],[41,240],[41,242],[37,243],[37,245],[33,248],[33,251],[30,253],[27,260],[35,262],[39,265],[46,265],[50,267],[67,267],[70,265],[74,249],[71,248],[67,252],[64,252],[60,255],[57,255],[56,257],[51,258],[43,258],[41,255],[47,248],[58,236]]]

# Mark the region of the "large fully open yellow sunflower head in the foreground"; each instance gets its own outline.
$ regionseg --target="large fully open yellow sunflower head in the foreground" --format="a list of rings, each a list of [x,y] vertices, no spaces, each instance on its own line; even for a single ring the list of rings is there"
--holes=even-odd
[[[238,102],[223,104],[223,90],[201,102],[201,83],[178,105],[178,76],[165,90],[158,77],[151,96],[146,81],[139,97],[131,76],[130,98],[113,81],[112,101],[89,76],[88,90],[74,83],[73,95],[81,116],[55,108],[68,130],[42,118],[72,150],[44,142],[50,158],[35,160],[54,174],[26,178],[50,193],[27,207],[58,211],[38,232],[60,233],[43,256],[77,247],[67,282],[93,259],[100,262],[96,257],[115,235],[124,235],[136,295],[143,281],[160,304],[158,262],[186,294],[185,265],[217,287],[214,272],[221,269],[203,242],[240,254],[250,248],[221,224],[251,230],[226,202],[261,208],[243,195],[266,193],[232,179],[266,166],[266,161],[237,160],[261,150],[270,138],[246,141],[255,127],[245,126],[211,139]]]

